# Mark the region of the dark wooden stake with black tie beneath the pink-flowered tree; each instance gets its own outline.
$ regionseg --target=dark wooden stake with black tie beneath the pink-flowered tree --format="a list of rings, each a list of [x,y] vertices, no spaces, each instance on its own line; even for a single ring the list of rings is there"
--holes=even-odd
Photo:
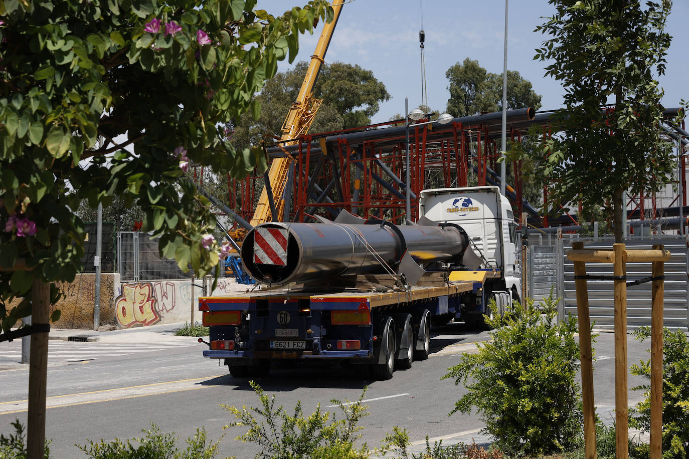
[[[37,275],[31,287],[32,326],[50,321],[50,284]],[[48,381],[48,332],[31,334],[29,360],[29,410],[26,432],[27,458],[45,456],[45,385]]]

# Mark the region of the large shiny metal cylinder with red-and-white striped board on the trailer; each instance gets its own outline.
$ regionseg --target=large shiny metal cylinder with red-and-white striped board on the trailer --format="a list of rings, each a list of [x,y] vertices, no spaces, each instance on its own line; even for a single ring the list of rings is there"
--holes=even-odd
[[[361,221],[366,223],[260,224],[244,239],[243,266],[257,281],[278,286],[342,275],[398,273],[409,255],[415,269],[433,261],[460,262],[469,246],[466,232],[456,225]]]

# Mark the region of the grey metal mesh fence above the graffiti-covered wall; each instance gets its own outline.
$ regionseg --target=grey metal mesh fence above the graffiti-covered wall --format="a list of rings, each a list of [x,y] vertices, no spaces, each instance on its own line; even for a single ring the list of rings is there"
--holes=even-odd
[[[185,273],[176,261],[158,255],[158,238],[134,231],[117,233],[117,270],[122,281],[192,277],[191,270]]]

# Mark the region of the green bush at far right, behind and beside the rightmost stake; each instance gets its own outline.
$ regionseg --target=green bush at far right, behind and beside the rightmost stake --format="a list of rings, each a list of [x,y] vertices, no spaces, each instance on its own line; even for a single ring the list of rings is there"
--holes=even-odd
[[[635,339],[650,338],[650,328],[633,333]],[[650,352],[650,351],[649,351]],[[650,380],[650,360],[631,366],[631,373]],[[650,384],[632,387],[644,390],[644,401],[630,410],[630,427],[650,431]],[[681,330],[663,329],[663,459],[689,456],[689,339]]]

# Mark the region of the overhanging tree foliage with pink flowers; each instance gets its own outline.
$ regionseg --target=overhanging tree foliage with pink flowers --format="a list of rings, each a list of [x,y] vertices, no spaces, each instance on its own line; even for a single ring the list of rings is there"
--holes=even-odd
[[[84,228],[72,211],[83,199],[136,202],[143,231],[183,269],[203,275],[218,263],[204,237],[214,217],[183,171],[191,160],[235,177],[265,167],[224,127],[260,116],[252,96],[295,58],[300,33],[332,18],[322,0],[280,17],[255,5],[0,1],[0,268],[28,267],[0,273],[4,330],[27,315],[34,277],[71,281],[81,270]],[[8,312],[14,297],[25,299]]]

